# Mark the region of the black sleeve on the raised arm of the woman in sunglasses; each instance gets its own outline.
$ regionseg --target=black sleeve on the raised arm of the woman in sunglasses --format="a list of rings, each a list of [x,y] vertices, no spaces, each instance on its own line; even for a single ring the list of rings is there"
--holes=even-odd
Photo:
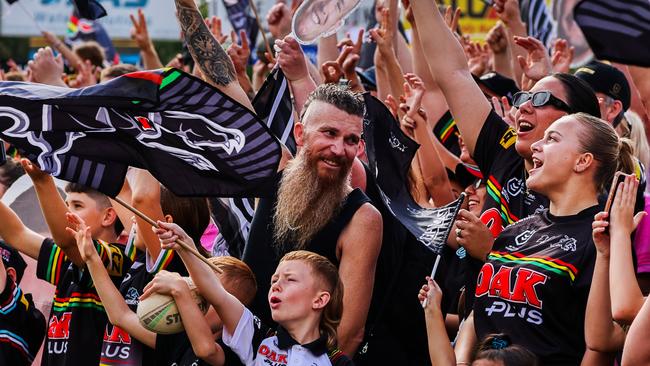
[[[515,130],[494,111],[490,111],[476,140],[472,157],[481,172],[487,176],[493,163],[501,160],[502,156],[515,154],[518,157],[515,150],[516,141]]]

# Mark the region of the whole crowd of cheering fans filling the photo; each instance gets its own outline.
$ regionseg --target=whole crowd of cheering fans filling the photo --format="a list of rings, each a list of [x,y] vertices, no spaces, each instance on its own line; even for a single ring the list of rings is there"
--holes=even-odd
[[[270,54],[245,32],[222,34],[194,0],[175,3],[191,57],[179,50],[165,67],[250,110],[280,68],[297,153],[283,152],[235,258],[213,256],[222,223],[205,198],[130,169],[118,197],[152,227],[76,183],[62,198],[6,144],[0,196],[27,174],[50,237],[0,203],[1,365],[29,365],[41,347],[52,366],[650,362],[650,69],[576,67],[567,40],[549,50],[527,34],[518,0],[493,1],[499,22],[484,44],[460,33],[458,9],[377,0],[375,24],[319,39],[316,63],[291,36],[296,4],[266,15]],[[83,88],[164,67],[145,14],[131,20],[142,67],[45,32],[49,46],[0,81]],[[413,200],[436,208],[467,194],[435,275],[436,254],[384,205],[368,168],[364,123],[392,123],[366,118],[368,94],[420,146],[402,177]],[[20,253],[56,288],[49,314],[21,289]],[[142,324],[138,303],[153,294],[173,297],[184,332]]]

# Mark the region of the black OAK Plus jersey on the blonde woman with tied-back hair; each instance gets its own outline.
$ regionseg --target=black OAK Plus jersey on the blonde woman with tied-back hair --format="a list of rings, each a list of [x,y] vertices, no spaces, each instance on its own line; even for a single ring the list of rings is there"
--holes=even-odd
[[[478,339],[506,333],[535,353],[542,365],[579,365],[596,250],[594,215],[548,210],[507,227],[478,275],[474,326]]]

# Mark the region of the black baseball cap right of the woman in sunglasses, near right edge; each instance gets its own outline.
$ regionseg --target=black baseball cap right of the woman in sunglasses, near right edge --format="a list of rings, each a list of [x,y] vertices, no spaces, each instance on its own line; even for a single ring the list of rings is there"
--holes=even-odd
[[[597,93],[603,93],[623,104],[623,111],[630,108],[631,92],[625,74],[614,66],[591,61],[576,70],[575,76],[584,80]]]

